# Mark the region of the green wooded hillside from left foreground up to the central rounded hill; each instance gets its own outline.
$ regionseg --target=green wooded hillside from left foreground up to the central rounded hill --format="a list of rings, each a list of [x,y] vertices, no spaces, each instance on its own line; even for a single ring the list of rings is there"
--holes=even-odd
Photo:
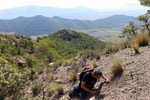
[[[94,37],[72,30],[60,30],[37,40],[0,34],[0,100],[25,99],[26,86],[32,85],[45,68],[48,68],[47,73],[52,73],[79,52],[88,50],[94,55],[93,50],[104,46],[105,43]],[[49,66],[49,63],[54,65]],[[47,80],[51,81],[49,77]],[[33,86],[34,94],[40,92],[36,90],[41,89],[41,86],[36,87],[38,84]]]

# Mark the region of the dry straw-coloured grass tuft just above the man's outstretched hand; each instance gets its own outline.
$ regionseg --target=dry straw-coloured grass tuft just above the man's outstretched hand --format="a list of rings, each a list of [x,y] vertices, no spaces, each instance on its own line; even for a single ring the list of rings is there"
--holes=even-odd
[[[116,77],[123,72],[122,61],[113,57],[112,58],[112,64],[113,65],[111,67],[111,71],[112,71],[113,77]]]

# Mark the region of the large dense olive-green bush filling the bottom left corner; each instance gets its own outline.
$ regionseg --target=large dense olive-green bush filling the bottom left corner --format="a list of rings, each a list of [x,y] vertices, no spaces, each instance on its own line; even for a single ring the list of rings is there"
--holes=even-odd
[[[12,97],[19,100],[24,94],[24,88],[28,85],[30,71],[19,70],[14,65],[9,65],[8,61],[0,58],[0,100]]]

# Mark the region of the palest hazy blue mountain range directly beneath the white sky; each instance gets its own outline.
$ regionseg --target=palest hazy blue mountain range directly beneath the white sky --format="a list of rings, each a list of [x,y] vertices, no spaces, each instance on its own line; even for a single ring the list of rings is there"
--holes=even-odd
[[[47,17],[60,16],[68,19],[84,20],[84,19],[106,18],[118,14],[123,14],[127,16],[138,16],[140,14],[144,14],[145,12],[146,8],[142,8],[140,4],[139,5],[132,4],[132,6],[131,4],[123,5],[122,7],[101,9],[101,10],[86,8],[82,6],[75,8],[56,8],[50,6],[23,6],[23,7],[9,8],[6,10],[0,10],[0,19],[13,19],[19,16],[33,17],[36,15],[42,15]]]

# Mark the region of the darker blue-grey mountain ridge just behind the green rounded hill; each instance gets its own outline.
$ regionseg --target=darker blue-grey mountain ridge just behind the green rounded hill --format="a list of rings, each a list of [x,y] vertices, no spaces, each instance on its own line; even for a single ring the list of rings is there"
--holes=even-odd
[[[56,32],[60,29],[107,29],[121,28],[134,17],[114,15],[105,19],[94,21],[64,19],[60,17],[18,17],[11,20],[0,20],[0,32],[14,32],[16,34],[31,36]]]

